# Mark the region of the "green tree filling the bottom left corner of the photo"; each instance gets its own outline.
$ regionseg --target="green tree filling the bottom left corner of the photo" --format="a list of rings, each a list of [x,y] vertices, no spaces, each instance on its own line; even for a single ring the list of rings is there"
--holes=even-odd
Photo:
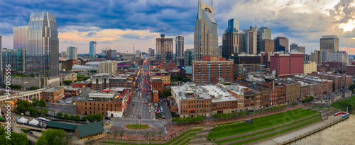
[[[30,142],[27,139],[26,134],[11,132],[10,139],[6,139],[9,135],[6,134],[6,129],[0,127],[0,142],[1,144],[23,144],[28,145]]]

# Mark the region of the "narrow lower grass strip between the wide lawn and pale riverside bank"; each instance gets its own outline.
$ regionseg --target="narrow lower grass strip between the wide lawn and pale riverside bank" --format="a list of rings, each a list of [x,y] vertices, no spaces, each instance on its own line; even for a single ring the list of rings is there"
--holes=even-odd
[[[242,137],[236,137],[236,138],[233,138],[233,139],[225,139],[225,140],[222,140],[222,141],[216,141],[216,143],[219,144],[219,143],[224,143],[224,142],[229,142],[229,141],[236,141],[236,140],[239,140],[239,139],[245,139],[245,138],[248,138],[248,137],[253,137],[253,136],[256,136],[256,135],[259,135],[259,134],[265,134],[267,132],[272,132],[272,131],[277,130],[277,129],[283,129],[285,127],[290,127],[290,126],[292,126],[294,124],[297,124],[297,123],[300,123],[300,122],[305,122],[307,120],[312,120],[313,118],[316,118],[316,117],[321,117],[321,115],[316,115],[316,116],[313,116],[313,117],[309,117],[309,118],[306,118],[305,120],[300,120],[298,122],[293,122],[291,124],[283,125],[281,127],[268,129],[268,130],[263,131],[263,132],[257,132],[257,133],[254,133],[254,134],[248,134],[248,135],[245,135],[245,136],[242,136]]]

